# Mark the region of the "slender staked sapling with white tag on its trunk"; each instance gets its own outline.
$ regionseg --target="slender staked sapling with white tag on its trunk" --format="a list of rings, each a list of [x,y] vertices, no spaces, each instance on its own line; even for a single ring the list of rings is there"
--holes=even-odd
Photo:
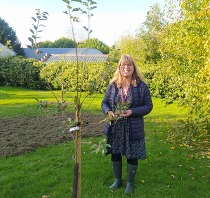
[[[81,3],[85,10],[79,8],[73,8],[71,3],[75,1]],[[90,34],[92,30],[90,29],[90,18],[93,16],[92,10],[96,8],[96,2],[92,0],[63,0],[66,3],[67,10],[64,12],[68,15],[73,40],[76,42],[76,36],[74,31],[74,22],[79,22],[79,18],[73,15],[73,12],[80,11],[82,14],[87,15],[88,17],[88,26],[84,26],[85,30],[87,31],[88,39],[90,38]],[[76,42],[77,43],[77,42]],[[76,45],[76,96],[74,97],[74,107],[75,107],[75,128],[72,128],[73,131],[76,131],[76,155],[75,155],[75,176],[74,176],[74,188],[73,188],[73,197],[80,198],[81,197],[81,108],[87,96],[94,92],[94,82],[88,86],[87,89],[84,90],[83,87],[83,80],[85,79],[85,75],[87,74],[85,65],[80,66],[78,61],[78,52],[77,52],[77,45]],[[81,92],[85,91],[86,96],[84,99],[81,97]]]

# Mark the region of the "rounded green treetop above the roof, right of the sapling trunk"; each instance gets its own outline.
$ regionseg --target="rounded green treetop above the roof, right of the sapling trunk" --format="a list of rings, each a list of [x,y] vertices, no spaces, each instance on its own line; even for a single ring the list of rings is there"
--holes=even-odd
[[[97,38],[90,38],[78,44],[78,47],[80,48],[86,48],[87,46],[89,48],[96,48],[103,54],[109,54],[109,46],[107,46],[105,43]]]

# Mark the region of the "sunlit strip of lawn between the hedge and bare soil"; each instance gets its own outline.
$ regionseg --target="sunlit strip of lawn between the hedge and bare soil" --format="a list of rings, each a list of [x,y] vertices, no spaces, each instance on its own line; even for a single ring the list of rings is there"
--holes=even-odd
[[[64,100],[69,103],[67,111],[74,111],[73,100],[75,93],[64,93]],[[57,112],[57,100],[61,102],[61,91],[34,91],[13,87],[0,87],[0,118],[43,115],[42,111],[37,111],[39,101],[48,101],[51,103],[47,108],[46,114],[54,114]],[[85,98],[84,94],[81,100]],[[97,98],[95,100],[95,98]],[[83,103],[82,111],[99,113],[100,101],[102,95],[93,95],[87,97]]]

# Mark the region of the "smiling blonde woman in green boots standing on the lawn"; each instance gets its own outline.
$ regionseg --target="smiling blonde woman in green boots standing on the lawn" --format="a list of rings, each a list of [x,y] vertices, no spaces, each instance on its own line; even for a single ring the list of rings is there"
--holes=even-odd
[[[143,116],[153,108],[150,91],[144,82],[133,58],[123,55],[119,60],[114,77],[110,81],[104,98],[102,110],[111,120],[106,123],[108,148],[111,153],[114,183],[111,190],[122,185],[122,156],[127,158],[127,182],[125,193],[134,190],[134,179],[139,159],[146,159]]]

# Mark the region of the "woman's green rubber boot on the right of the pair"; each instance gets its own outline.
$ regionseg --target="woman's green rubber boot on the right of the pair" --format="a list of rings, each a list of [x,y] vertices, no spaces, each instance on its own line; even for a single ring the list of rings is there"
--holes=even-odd
[[[134,190],[134,179],[136,176],[137,168],[138,165],[127,164],[127,182],[125,188],[126,194],[131,194]]]

